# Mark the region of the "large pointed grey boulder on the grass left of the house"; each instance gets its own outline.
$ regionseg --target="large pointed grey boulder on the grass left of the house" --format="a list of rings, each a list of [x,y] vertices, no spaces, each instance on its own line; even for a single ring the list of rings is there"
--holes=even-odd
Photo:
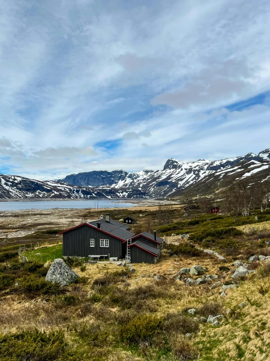
[[[45,277],[46,281],[67,286],[76,281],[79,276],[72,271],[63,259],[57,258],[52,264]]]

